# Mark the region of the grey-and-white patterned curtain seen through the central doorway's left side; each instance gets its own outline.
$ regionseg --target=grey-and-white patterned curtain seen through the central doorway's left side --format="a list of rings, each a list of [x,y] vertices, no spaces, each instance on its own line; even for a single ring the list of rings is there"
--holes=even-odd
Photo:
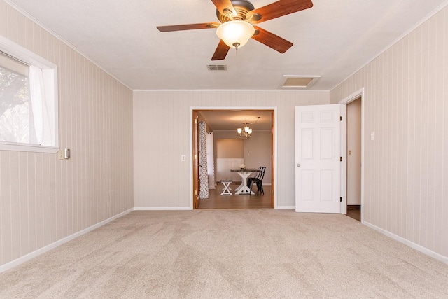
[[[209,198],[209,170],[207,169],[207,127],[199,123],[199,198]]]

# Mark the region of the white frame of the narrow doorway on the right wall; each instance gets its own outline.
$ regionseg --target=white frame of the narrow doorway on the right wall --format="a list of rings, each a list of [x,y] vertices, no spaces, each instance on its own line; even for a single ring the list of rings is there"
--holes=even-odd
[[[348,97],[344,97],[344,99],[341,99],[338,104],[346,105],[354,100],[360,98],[361,99],[361,223],[364,222],[364,107],[365,107],[365,97],[364,97],[364,88],[360,88],[360,90],[357,90],[356,92],[353,92]],[[345,163],[342,163],[341,165],[341,196],[343,196],[343,200],[341,202],[341,213],[346,214],[347,210],[347,199],[346,199],[346,188],[347,188],[347,181],[346,181],[346,173],[347,173],[347,153],[346,153],[346,140],[347,140],[347,128],[342,127],[341,128],[341,144],[344,144],[344,151],[341,151],[342,159],[345,161]],[[344,181],[342,181],[344,180]]]

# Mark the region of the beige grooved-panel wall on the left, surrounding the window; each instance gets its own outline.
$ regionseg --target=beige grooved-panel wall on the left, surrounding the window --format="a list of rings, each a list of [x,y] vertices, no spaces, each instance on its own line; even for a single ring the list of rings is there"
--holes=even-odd
[[[57,64],[57,154],[0,151],[0,265],[133,207],[132,91],[0,1],[0,35]]]

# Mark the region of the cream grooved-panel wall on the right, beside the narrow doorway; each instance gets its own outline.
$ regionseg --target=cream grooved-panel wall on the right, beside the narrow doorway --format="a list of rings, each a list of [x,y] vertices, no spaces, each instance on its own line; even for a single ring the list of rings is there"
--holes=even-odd
[[[445,7],[331,92],[365,88],[364,220],[445,257],[447,82]]]

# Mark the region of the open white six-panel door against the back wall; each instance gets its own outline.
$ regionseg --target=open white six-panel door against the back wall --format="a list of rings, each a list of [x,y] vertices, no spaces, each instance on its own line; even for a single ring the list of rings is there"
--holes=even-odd
[[[340,106],[295,107],[295,211],[341,211]]]

